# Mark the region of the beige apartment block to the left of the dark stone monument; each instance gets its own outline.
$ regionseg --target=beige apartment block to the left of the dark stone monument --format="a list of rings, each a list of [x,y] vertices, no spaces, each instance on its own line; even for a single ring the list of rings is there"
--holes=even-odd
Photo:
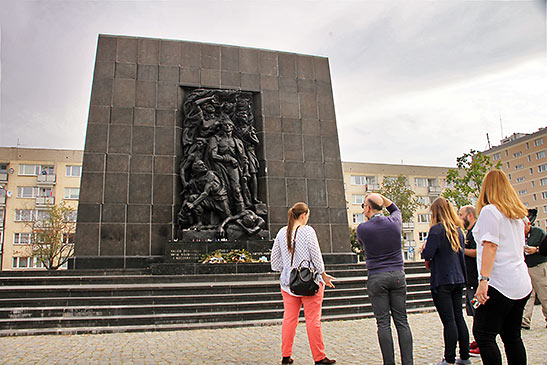
[[[83,151],[0,147],[1,270],[40,269],[29,222],[50,204],[78,208]]]

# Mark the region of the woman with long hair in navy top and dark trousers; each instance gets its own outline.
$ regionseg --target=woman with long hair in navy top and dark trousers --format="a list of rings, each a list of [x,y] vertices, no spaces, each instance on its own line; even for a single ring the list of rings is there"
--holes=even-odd
[[[431,228],[422,256],[430,261],[431,296],[443,323],[444,359],[438,364],[471,364],[469,331],[462,313],[466,282],[462,222],[445,198],[435,199],[430,210]],[[458,359],[457,342],[460,345]]]

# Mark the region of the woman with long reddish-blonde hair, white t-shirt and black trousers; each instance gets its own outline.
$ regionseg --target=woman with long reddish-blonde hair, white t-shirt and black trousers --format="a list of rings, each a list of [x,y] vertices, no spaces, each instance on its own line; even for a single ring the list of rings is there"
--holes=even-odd
[[[520,336],[522,313],[532,291],[524,262],[524,223],[528,210],[501,170],[484,177],[479,200],[479,218],[473,228],[477,242],[479,286],[475,294],[480,306],[475,312],[473,335],[483,364],[501,364],[496,344],[499,334],[507,362],[526,364],[526,349]]]

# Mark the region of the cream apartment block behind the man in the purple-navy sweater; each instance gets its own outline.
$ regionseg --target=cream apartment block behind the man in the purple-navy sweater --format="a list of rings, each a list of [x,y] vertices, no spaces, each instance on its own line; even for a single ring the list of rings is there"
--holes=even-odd
[[[403,254],[405,260],[419,260],[416,247],[425,242],[431,222],[428,207],[446,187],[445,176],[448,169],[448,167],[436,166],[342,162],[350,227],[355,228],[359,223],[364,222],[361,203],[368,192],[378,191],[386,177],[405,175],[418,200],[424,206],[416,210],[412,222],[403,223]]]

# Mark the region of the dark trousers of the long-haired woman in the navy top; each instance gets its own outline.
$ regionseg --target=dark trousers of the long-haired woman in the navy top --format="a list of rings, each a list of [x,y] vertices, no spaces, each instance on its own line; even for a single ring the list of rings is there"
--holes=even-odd
[[[444,358],[449,363],[456,362],[457,343],[460,345],[460,358],[469,359],[469,331],[462,310],[463,286],[439,285],[431,290],[435,308],[443,323]]]

